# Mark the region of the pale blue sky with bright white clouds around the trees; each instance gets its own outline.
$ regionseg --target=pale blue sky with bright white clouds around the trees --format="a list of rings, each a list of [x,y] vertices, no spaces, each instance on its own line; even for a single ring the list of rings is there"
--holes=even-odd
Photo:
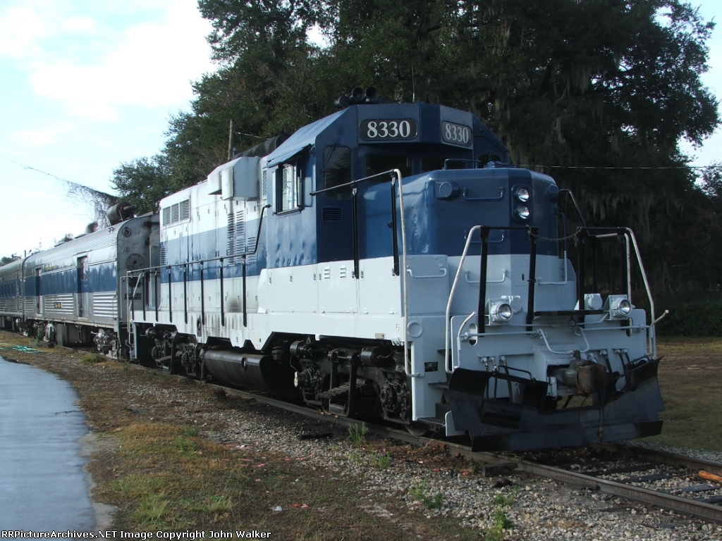
[[[722,100],[722,2],[702,79]],[[0,0],[0,256],[80,234],[92,209],[70,180],[113,193],[123,162],[157,154],[191,82],[214,71],[196,0]],[[722,160],[722,128],[692,164]]]

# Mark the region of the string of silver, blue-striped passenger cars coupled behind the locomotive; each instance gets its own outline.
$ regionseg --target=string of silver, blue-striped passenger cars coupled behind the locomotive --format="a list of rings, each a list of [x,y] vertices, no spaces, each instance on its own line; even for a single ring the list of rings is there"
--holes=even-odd
[[[157,216],[120,221],[0,268],[6,327],[61,345],[97,344],[127,356],[126,273],[154,263]],[[6,290],[8,295],[6,296]],[[11,296],[12,295],[12,296]]]

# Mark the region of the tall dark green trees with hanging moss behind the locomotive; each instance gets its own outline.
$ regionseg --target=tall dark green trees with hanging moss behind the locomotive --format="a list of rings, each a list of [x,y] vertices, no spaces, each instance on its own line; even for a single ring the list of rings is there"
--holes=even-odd
[[[680,286],[670,262],[689,248],[679,232],[703,220],[697,209],[713,195],[695,188],[678,141],[699,144],[720,123],[718,100],[700,82],[714,25],[690,4],[200,0],[199,8],[219,70],[194,84],[191,111],[171,119],[157,157],[116,170],[118,189],[139,208],[224,162],[230,120],[233,146],[248,148],[373,84],[391,100],[477,114],[517,164],[571,188],[590,223],[631,226],[656,286]],[[308,42],[314,25],[327,48]]]

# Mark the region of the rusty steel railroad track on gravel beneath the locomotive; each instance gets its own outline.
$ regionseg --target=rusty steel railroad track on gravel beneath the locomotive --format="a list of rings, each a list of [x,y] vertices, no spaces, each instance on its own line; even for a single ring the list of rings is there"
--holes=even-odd
[[[259,403],[300,413],[318,421],[328,421],[344,427],[360,425],[360,421],[355,419],[329,415],[303,405],[286,403],[258,392],[237,390],[211,383],[206,383],[206,385],[222,389],[228,395],[253,399]],[[590,461],[584,466],[576,464],[576,462],[579,462],[578,460],[569,460],[567,464],[563,464],[562,460],[562,465],[553,465],[544,463],[544,459],[539,459],[534,455],[531,455],[530,458],[528,454],[517,456],[496,452],[474,452],[468,445],[425,436],[413,436],[405,430],[388,426],[366,424],[366,428],[369,433],[376,436],[396,439],[417,446],[427,444],[443,445],[451,453],[460,454],[483,465],[527,472],[539,477],[589,488],[601,493],[643,503],[644,505],[658,506],[675,513],[692,515],[708,522],[722,524],[722,483],[714,481],[701,482],[702,480],[697,479],[700,470],[722,476],[722,464],[718,462],[629,445],[602,444],[586,449],[591,449],[596,453],[606,453],[608,455],[606,462],[614,463],[625,460],[627,465],[614,464],[605,467],[605,462],[601,459],[597,459],[596,462]],[[544,455],[549,455],[549,453]],[[560,461],[555,459],[552,462]],[[671,489],[664,484],[664,480],[671,479],[689,481],[686,484],[680,483],[678,487]],[[663,483],[655,486],[654,483],[658,482]]]

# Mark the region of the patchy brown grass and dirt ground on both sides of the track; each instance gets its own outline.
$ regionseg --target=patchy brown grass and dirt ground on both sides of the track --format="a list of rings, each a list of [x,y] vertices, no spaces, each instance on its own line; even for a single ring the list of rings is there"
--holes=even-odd
[[[12,346],[41,353],[7,349]],[[664,432],[651,441],[722,450],[722,339],[666,339],[659,353],[664,355],[659,380],[667,409]],[[238,449],[209,437],[225,428],[224,412],[253,413],[255,402],[90,353],[39,347],[5,332],[0,332],[0,355],[40,366],[74,385],[95,434],[88,465],[95,482],[93,497],[116,508],[112,529],[252,527],[272,529],[275,539],[294,540],[464,540],[486,535],[461,527],[451,517],[430,520],[424,513],[412,513],[398,499],[380,502],[393,519],[359,512],[359,480],[331,480],[300,470],[281,453]],[[347,440],[342,432],[334,437]],[[413,457],[475,475],[473,465],[438,449],[367,441],[368,449],[374,446],[383,447],[393,459]],[[304,502],[303,507],[298,502]],[[269,512],[279,505],[284,513]]]

